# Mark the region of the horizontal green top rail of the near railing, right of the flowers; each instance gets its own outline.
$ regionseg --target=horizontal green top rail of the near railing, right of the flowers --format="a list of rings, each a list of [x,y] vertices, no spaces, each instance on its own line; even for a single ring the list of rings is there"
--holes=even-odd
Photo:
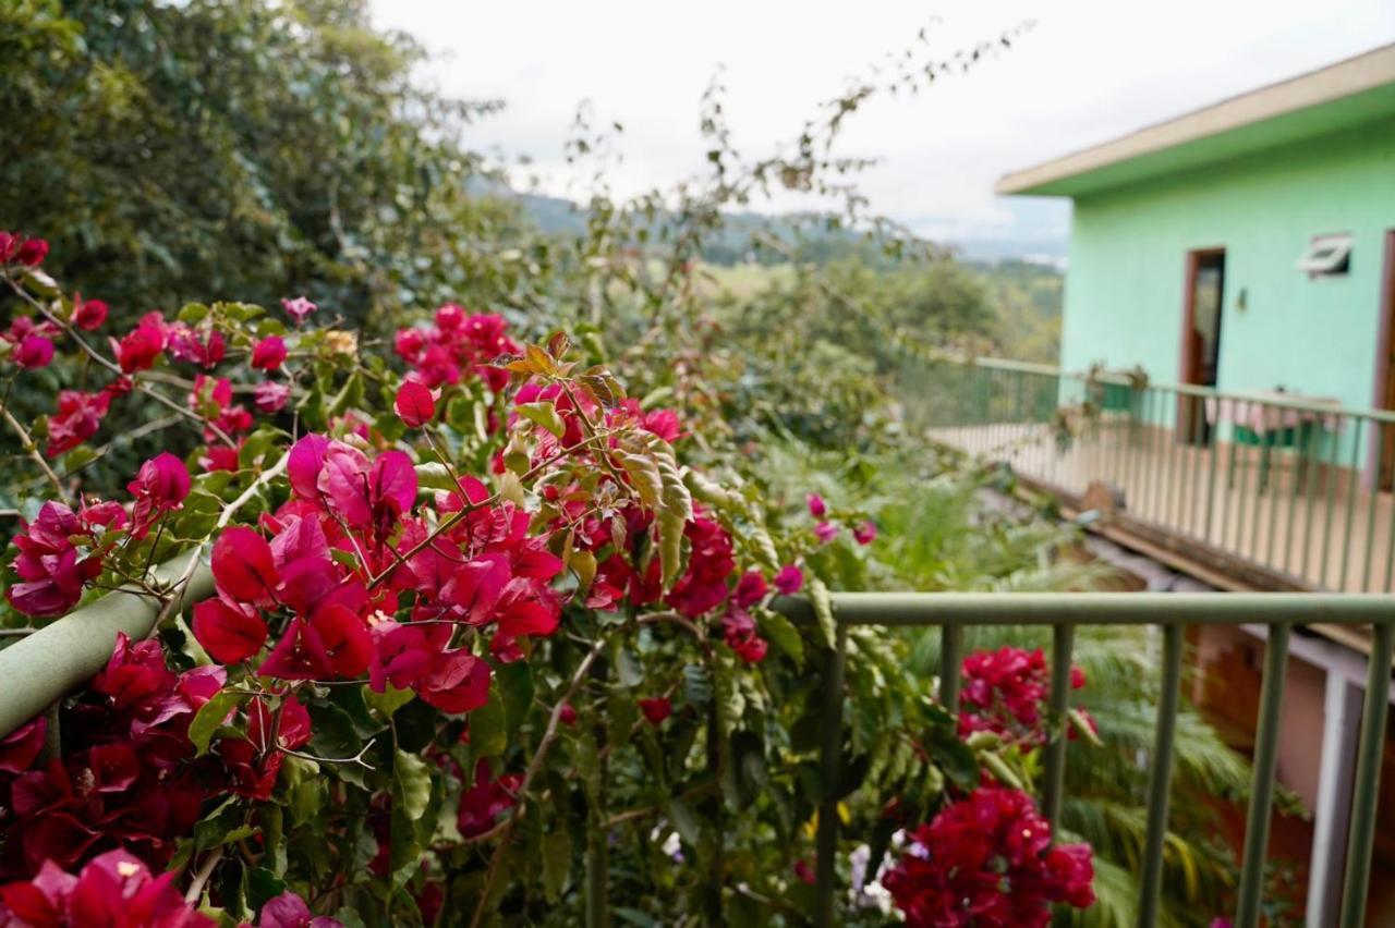
[[[1148,592],[836,592],[834,616],[850,626],[1242,626],[1253,623],[1370,626],[1395,621],[1382,594]],[[774,608],[812,617],[802,596]]]

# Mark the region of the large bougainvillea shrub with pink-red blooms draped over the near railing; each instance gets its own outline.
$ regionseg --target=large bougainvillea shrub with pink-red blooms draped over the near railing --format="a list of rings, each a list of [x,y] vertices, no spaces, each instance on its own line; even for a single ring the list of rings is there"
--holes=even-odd
[[[820,801],[852,805],[855,839],[889,798],[912,815],[979,780],[870,630],[850,631],[848,773],[819,779],[823,566],[875,527],[810,497],[773,531],[753,486],[696,465],[684,411],[593,348],[446,305],[398,332],[400,375],[299,295],[151,311],[103,350],[107,308],[32,241],[0,238],[0,365],[70,389],[32,422],[4,410],[50,490],[4,624],[120,587],[158,614],[0,740],[0,924],[569,924],[583,886],[760,921],[809,913]],[[100,499],[82,467],[137,400],[188,451]],[[181,589],[205,591],[187,613]],[[771,608],[797,592],[816,623]]]

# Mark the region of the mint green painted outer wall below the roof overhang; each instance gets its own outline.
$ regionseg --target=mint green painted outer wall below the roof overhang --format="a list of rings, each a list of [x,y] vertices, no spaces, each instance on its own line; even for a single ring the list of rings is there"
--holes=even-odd
[[[1373,404],[1395,118],[1076,199],[1062,366],[1143,365],[1176,383],[1186,254],[1226,249],[1222,390],[1279,385]],[[1310,280],[1313,235],[1350,233],[1350,272]],[[1246,308],[1237,307],[1240,291]]]

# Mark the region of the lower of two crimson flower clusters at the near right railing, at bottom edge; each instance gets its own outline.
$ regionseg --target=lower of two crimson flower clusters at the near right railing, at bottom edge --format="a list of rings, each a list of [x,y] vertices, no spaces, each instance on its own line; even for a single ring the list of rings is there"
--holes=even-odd
[[[1021,790],[979,787],[915,830],[882,878],[910,928],[1043,928],[1052,904],[1095,902],[1088,844],[1050,843]]]

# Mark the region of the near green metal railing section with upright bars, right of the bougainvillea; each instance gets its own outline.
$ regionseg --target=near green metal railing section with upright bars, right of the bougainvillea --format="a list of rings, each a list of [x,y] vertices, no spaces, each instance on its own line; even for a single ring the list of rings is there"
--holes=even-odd
[[[1373,628],[1368,658],[1356,778],[1352,790],[1350,828],[1341,900],[1342,928],[1363,924],[1375,839],[1375,807],[1385,719],[1391,698],[1391,658],[1395,652],[1395,598],[1334,594],[834,594],[837,644],[827,654],[822,764],[824,782],[836,783],[843,755],[843,680],[847,662],[847,630],[851,626],[939,626],[940,701],[958,706],[964,630],[972,626],[1052,626],[1050,713],[1066,718],[1070,709],[1069,673],[1074,630],[1078,626],[1155,626],[1162,637],[1161,695],[1152,751],[1148,754],[1148,829],[1138,882],[1138,925],[1158,924],[1162,892],[1163,847],[1168,830],[1168,793],[1173,765],[1173,737],[1182,698],[1183,638],[1189,626],[1268,627],[1244,853],[1237,886],[1235,924],[1257,928],[1264,888],[1264,860],[1274,803],[1281,709],[1289,640],[1295,626],[1335,624]],[[812,620],[804,599],[781,601],[792,617]],[[1066,726],[1056,726],[1045,751],[1042,814],[1055,833],[1060,823],[1066,772]],[[819,810],[817,828],[817,924],[830,925],[837,899],[837,803]]]

